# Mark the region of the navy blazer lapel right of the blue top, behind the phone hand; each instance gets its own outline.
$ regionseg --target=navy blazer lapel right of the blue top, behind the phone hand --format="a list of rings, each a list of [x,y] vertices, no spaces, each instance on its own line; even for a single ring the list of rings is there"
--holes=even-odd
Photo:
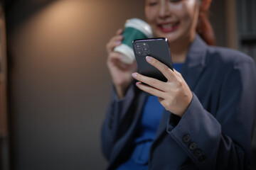
[[[196,38],[193,40],[191,46],[189,47],[186,62],[183,64],[181,69],[183,79],[185,79],[191,91],[193,91],[193,88],[196,86],[196,82],[198,81],[198,78],[200,77],[205,67],[206,52],[206,42],[203,42],[199,35],[196,35]],[[156,132],[156,140],[166,130],[166,125],[170,115],[171,113],[169,111],[164,111],[161,117],[159,128]]]

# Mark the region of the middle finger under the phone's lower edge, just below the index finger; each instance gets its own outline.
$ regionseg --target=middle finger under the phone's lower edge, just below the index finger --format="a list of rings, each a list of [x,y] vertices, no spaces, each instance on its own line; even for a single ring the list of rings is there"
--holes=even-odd
[[[139,74],[137,72],[133,73],[132,77],[134,79],[137,79],[138,81],[141,81],[144,84],[148,84],[149,86],[154,87],[155,89],[159,89],[161,91],[166,91],[167,90],[167,88],[165,86],[165,82],[160,81],[158,79],[154,79],[154,78],[151,78],[151,77],[146,77],[146,76],[144,76],[142,74]]]

